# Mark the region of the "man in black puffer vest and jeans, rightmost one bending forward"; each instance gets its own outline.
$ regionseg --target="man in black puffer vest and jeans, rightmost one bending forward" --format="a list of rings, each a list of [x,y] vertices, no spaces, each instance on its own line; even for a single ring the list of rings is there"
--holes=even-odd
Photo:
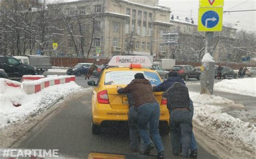
[[[167,106],[170,109],[172,154],[179,156],[181,139],[181,156],[188,158],[192,133],[188,89],[176,82],[163,93],[163,97],[167,98]]]

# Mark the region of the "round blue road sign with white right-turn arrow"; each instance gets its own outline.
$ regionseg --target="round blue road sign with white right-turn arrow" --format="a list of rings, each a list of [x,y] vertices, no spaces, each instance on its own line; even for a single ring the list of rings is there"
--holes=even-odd
[[[219,15],[214,11],[207,11],[201,18],[202,24],[207,28],[212,28],[219,23]]]

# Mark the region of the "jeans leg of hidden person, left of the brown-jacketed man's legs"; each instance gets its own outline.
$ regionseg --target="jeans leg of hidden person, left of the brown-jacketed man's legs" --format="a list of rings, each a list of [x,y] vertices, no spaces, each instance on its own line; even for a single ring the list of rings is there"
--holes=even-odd
[[[138,131],[138,113],[134,110],[134,106],[130,106],[128,114],[128,124],[130,130],[130,149],[139,149],[139,140],[140,140],[140,151],[144,152],[146,146],[142,140],[139,139]]]

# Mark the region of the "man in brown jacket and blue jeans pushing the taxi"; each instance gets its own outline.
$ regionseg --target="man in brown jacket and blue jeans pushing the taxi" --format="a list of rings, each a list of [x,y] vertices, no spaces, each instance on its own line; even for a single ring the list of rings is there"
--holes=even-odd
[[[164,158],[164,145],[159,134],[160,106],[153,95],[153,89],[149,80],[142,73],[134,75],[134,80],[125,88],[117,87],[119,93],[132,93],[134,109],[138,112],[138,129],[143,139],[146,150],[144,154],[150,154],[154,145],[157,148],[158,158]],[[121,89],[121,90],[120,90]],[[147,125],[150,125],[150,134]],[[150,136],[154,144],[150,140]]]

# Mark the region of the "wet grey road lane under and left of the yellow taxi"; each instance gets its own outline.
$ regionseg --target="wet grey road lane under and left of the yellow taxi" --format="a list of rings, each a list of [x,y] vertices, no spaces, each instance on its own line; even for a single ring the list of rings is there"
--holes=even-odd
[[[86,86],[84,77],[78,77],[77,83]],[[91,151],[132,154],[129,150],[129,135],[127,131],[111,127],[101,135],[91,132],[91,94],[85,94],[78,99],[70,99],[62,110],[43,126],[22,142],[18,148],[59,149],[60,154],[86,158]],[[162,136],[166,158],[179,158],[171,154],[170,135]],[[217,158],[199,145],[198,158]],[[156,155],[156,151],[153,151]]]

